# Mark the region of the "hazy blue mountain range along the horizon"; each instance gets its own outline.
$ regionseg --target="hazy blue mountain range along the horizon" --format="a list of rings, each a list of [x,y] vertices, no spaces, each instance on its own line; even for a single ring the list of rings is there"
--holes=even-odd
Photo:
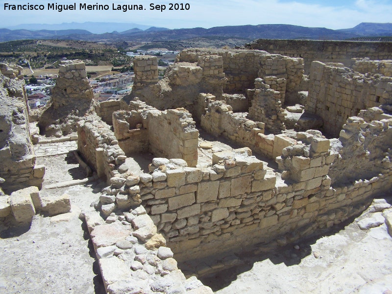
[[[46,25],[46,28],[75,27],[88,28],[94,24],[97,27],[105,27],[106,32],[94,34],[91,30],[84,29],[61,29],[61,30],[26,30],[26,29],[0,29],[0,41],[11,41],[19,39],[66,39],[83,40],[105,43],[115,43],[120,41],[173,41],[180,39],[191,39],[195,37],[215,37],[215,38],[241,38],[241,39],[321,39],[321,40],[344,40],[362,36],[392,36],[392,24],[361,23],[353,28],[328,29],[324,27],[305,27],[298,25],[236,25],[217,26],[212,28],[181,28],[168,29],[164,27],[132,27],[135,24],[117,23],[84,23],[84,24],[61,24]],[[80,25],[80,26],[77,26]],[[121,25],[121,29],[118,29]],[[38,27],[38,25],[35,25]],[[116,28],[117,29],[113,29]],[[144,30],[143,30],[144,29]],[[112,31],[112,32],[108,32]]]

